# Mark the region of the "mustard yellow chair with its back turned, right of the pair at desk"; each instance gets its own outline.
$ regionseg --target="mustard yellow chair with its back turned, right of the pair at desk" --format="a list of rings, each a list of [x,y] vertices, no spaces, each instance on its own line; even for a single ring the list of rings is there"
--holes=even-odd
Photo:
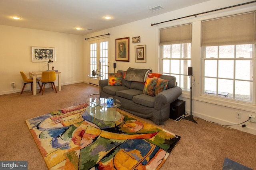
[[[42,77],[41,77],[42,86],[41,86],[41,89],[40,89],[39,93],[42,91],[42,95],[44,94],[45,84],[47,84],[47,83],[51,83],[52,84],[52,90],[53,90],[53,87],[54,87],[55,92],[57,93],[57,90],[56,90],[56,87],[55,87],[55,84],[54,84],[55,80],[56,80],[55,71],[43,71],[42,72]],[[44,88],[43,88],[43,84],[44,84]]]

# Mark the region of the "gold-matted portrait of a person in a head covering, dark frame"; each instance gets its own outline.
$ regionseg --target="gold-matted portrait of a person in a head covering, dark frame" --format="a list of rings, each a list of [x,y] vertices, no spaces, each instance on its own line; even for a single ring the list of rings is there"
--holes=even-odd
[[[129,37],[116,39],[116,61],[129,62]]]

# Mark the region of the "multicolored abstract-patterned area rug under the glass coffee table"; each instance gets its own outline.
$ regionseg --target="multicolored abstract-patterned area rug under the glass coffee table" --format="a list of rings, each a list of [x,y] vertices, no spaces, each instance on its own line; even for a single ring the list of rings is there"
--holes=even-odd
[[[121,113],[94,119],[86,103],[26,120],[50,170],[159,169],[180,137]]]

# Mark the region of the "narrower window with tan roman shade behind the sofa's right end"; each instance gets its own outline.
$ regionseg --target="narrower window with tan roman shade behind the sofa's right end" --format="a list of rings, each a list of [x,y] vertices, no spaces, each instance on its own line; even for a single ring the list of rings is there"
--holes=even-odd
[[[162,74],[176,77],[178,86],[190,89],[192,23],[159,30]]]

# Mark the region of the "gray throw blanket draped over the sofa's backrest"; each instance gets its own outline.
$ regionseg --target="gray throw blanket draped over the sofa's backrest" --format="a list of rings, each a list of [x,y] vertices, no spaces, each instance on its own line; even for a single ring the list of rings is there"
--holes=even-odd
[[[146,82],[148,73],[152,72],[151,69],[140,69],[140,68],[128,68],[126,70],[124,80]]]

